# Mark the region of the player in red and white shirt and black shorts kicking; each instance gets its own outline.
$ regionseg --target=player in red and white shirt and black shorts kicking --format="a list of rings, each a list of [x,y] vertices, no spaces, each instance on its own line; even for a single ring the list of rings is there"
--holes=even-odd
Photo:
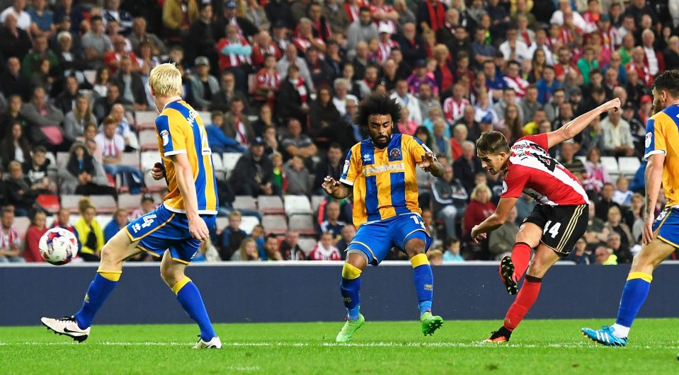
[[[503,172],[504,180],[496,212],[472,228],[474,241],[483,240],[486,233],[504,224],[523,192],[538,203],[521,224],[512,255],[500,262],[501,281],[509,294],[518,295],[502,327],[493,331],[486,342],[509,341],[540,294],[542,277],[549,267],[568,255],[584,235],[589,221],[587,193],[573,173],[549,155],[549,149],[572,139],[609,110],[620,110],[620,98],[603,103],[554,132],[523,137],[511,146],[500,132],[486,132],[477,140],[481,166],[492,175]],[[465,226],[469,225],[469,207]],[[531,260],[533,248],[535,255]],[[517,283],[524,272],[525,280],[519,291]]]

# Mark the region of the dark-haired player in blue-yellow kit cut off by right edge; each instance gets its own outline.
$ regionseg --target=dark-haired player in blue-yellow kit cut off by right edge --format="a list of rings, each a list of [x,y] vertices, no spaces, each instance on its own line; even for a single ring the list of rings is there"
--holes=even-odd
[[[651,289],[653,270],[679,247],[679,70],[666,71],[656,77],[653,88],[655,114],[646,122],[646,205],[644,208],[644,243],[634,256],[632,269],[622,289],[620,307],[614,325],[600,330],[583,328],[590,340],[607,346],[627,345],[627,335],[639,308]],[[665,189],[667,205],[654,218],[660,187]]]

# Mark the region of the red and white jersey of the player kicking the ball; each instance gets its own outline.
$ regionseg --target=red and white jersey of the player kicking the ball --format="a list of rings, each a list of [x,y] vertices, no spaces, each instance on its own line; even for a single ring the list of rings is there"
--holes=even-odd
[[[518,198],[521,192],[549,206],[574,206],[588,202],[578,179],[549,156],[547,133],[520,138],[510,148],[503,198]]]

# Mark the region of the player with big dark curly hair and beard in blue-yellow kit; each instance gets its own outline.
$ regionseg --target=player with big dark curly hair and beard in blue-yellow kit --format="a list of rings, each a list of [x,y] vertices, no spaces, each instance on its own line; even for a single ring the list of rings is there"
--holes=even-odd
[[[341,292],[347,320],[336,337],[348,342],[365,318],[360,313],[360,274],[368,264],[378,265],[392,247],[404,250],[413,265],[422,332],[431,335],[443,325],[431,313],[433,275],[426,250],[431,237],[418,207],[415,168],[420,166],[436,177],[443,166],[418,139],[393,134],[401,106],[391,98],[373,93],[359,105],[358,124],[370,139],[355,144],[346,156],[339,181],[325,178],[324,190],[336,199],[353,193],[353,224],[358,228],[342,269]]]

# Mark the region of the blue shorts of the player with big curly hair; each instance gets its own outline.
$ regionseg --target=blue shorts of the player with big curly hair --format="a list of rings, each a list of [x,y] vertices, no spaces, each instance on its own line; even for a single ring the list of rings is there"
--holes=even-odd
[[[367,262],[378,265],[387,257],[393,247],[404,250],[412,238],[420,238],[425,243],[425,251],[431,246],[420,215],[401,214],[386,220],[363,224],[358,228],[347,250],[359,250],[367,256]]]

